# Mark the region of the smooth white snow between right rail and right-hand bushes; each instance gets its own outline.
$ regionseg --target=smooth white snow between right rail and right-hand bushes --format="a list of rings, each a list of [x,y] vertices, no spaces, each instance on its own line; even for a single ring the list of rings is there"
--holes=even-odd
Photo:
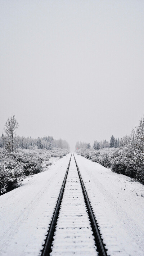
[[[108,255],[144,256],[144,185],[75,157]]]

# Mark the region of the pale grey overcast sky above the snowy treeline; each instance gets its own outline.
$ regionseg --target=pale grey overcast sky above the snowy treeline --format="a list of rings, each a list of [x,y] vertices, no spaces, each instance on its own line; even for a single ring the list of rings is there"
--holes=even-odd
[[[75,146],[130,133],[144,113],[143,0],[0,0],[0,134]]]

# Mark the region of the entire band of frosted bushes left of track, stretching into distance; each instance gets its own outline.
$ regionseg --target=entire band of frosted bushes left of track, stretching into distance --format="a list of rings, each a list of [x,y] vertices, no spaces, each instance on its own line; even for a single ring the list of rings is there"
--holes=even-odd
[[[51,150],[39,149],[36,146],[30,149],[19,149],[9,153],[0,149],[0,195],[18,187],[26,176],[42,171],[42,162],[51,157],[62,158],[68,154],[68,149],[54,148]]]

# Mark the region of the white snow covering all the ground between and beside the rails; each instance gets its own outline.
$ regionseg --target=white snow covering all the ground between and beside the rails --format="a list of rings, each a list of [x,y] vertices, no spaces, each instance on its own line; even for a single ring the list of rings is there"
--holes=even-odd
[[[0,256],[41,255],[70,156],[0,196]],[[144,186],[75,157],[108,255],[144,256]],[[51,256],[97,255],[73,156],[56,230]]]

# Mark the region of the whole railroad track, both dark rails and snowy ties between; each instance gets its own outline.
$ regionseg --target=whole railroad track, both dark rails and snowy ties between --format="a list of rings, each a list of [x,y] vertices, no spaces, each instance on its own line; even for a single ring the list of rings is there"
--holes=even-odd
[[[41,256],[107,256],[74,154],[71,154]]]

